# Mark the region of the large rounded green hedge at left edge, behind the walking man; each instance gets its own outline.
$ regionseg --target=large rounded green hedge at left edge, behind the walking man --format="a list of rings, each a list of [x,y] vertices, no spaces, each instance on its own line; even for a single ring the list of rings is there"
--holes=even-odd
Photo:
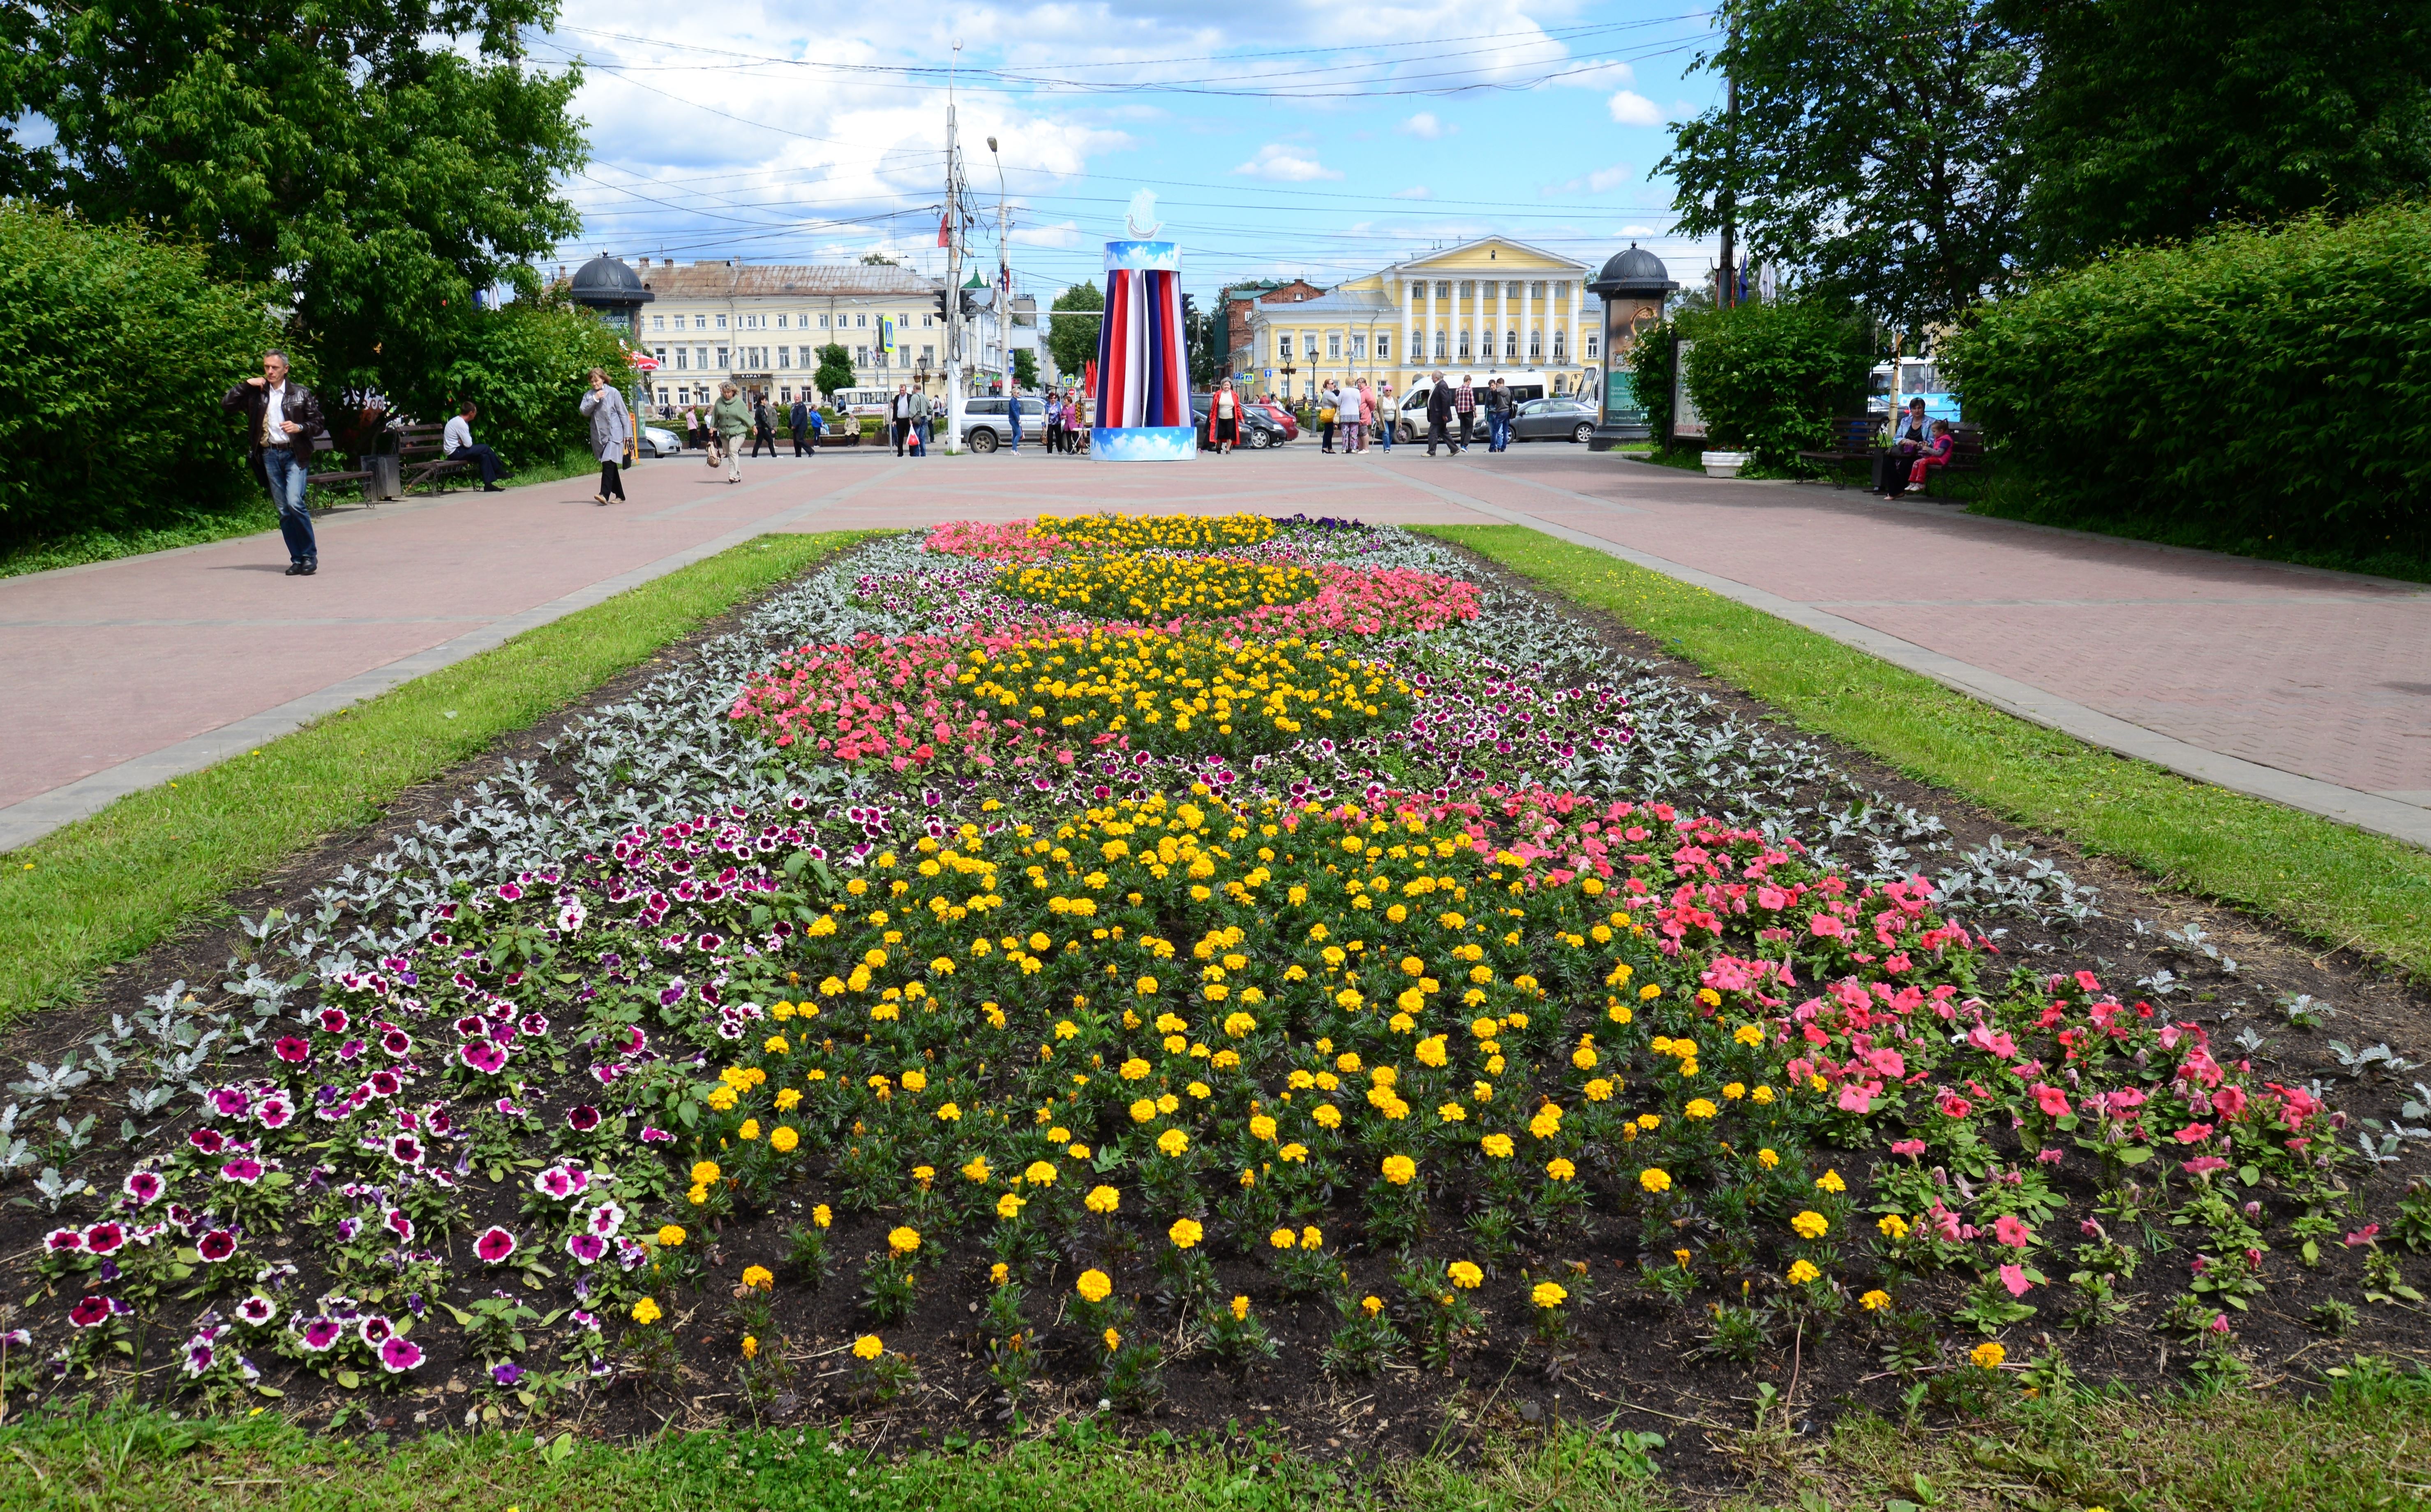
[[[143,530],[243,508],[243,423],[219,396],[260,372],[263,289],[134,226],[0,207],[0,540]]]

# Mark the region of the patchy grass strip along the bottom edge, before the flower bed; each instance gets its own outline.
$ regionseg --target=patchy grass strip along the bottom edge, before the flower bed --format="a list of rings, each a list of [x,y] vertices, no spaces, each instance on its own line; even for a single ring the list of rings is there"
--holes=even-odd
[[[459,1398],[462,1400],[462,1398]],[[311,1434],[277,1417],[109,1407],[0,1429],[0,1512],[211,1507],[214,1512],[421,1507],[868,1507],[870,1512],[1150,1512],[1181,1507],[1395,1507],[1410,1512],[1707,1512],[1777,1507],[2110,1507],[2113,1512],[2319,1512],[2421,1505],[2431,1376],[2356,1361],[2302,1398],[2222,1390],[2137,1400],[2057,1393],[1955,1427],[1860,1412],[1821,1444],[1777,1427],[1724,1432],[1748,1493],[1673,1495],[1677,1454],[1631,1424],[1483,1434],[1366,1473],[1310,1463],[1262,1432],[1123,1442],[1089,1420],[1040,1439],[873,1456],[822,1429],[661,1432],[639,1442],[435,1432],[391,1442]],[[1626,1437],[1624,1437],[1626,1434]]]

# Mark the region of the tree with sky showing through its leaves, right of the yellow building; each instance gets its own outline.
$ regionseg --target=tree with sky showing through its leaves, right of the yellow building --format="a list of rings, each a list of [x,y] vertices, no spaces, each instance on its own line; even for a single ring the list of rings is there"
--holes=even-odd
[[[1991,0],[1726,0],[1694,66],[1738,85],[1656,173],[1680,233],[1918,331],[2015,272],[2027,53]]]

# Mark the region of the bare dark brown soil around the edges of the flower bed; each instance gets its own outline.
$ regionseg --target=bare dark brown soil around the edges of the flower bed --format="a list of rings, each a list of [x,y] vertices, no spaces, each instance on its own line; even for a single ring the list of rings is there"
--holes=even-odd
[[[1527,586],[1488,562],[1473,562],[1473,571]],[[649,664],[605,683],[557,717],[508,737],[479,761],[413,788],[391,805],[379,824],[326,836],[267,882],[229,897],[219,921],[199,924],[143,958],[112,967],[88,1002],[17,1026],[0,1043],[0,1055],[10,1065],[27,1057],[41,1060],[46,1053],[88,1038],[97,1023],[107,1023],[112,1011],[126,1014],[141,1006],[146,994],[158,992],[170,980],[194,982],[207,994],[216,992],[211,987],[216,972],[243,938],[229,919],[258,914],[265,907],[299,907],[328,873],[345,863],[360,865],[387,851],[396,834],[411,831],[421,819],[445,817],[450,805],[469,797],[472,788],[496,775],[506,761],[540,761],[545,739],[583,712],[625,698],[644,678],[683,661],[700,642],[732,632],[741,613],[737,610],[686,642],[666,647]],[[1673,661],[1653,639],[1602,615],[1573,613],[1612,647],[1614,656],[1653,661],[1682,683],[1709,693],[1728,712],[1748,720],[1779,720],[1721,681]],[[2387,1077],[2380,1084],[2348,1082],[2329,1053],[2331,1038],[2343,1038],[2351,1045],[2387,1040],[2399,1055],[2431,1055],[2431,994],[2404,985],[2382,965],[2353,950],[2324,950],[2266,919],[2159,890],[2151,878],[2115,861],[2086,856],[2061,839],[2025,831],[1828,739],[1818,744],[1857,783],[1896,802],[1940,814],[1962,846],[1981,844],[1996,834],[2010,844],[2032,844],[2037,853],[2069,868],[2079,882],[2100,890],[2100,919],[2064,933],[2013,919],[2003,950],[2027,953],[2035,946],[2052,946],[2049,955],[2032,955],[2032,960],[2049,970],[2091,967],[2105,982],[2120,985],[2168,967],[2188,982],[2185,994],[2168,999],[2171,1011],[2215,1026],[2222,1057],[2234,1055],[2234,1045],[2227,1040],[2239,1028],[2254,1026],[2268,1038],[2268,1048],[2254,1057],[2258,1067],[2290,1084],[2317,1077],[2329,1082],[2331,1101],[2351,1116],[2390,1121],[2409,1094],[2412,1077]],[[2132,919],[2149,921],[2154,931],[2137,936],[2130,929]],[[2183,931],[2188,924],[2198,924],[2220,950],[2237,958],[2237,975],[2220,970],[2200,953],[2166,946],[2159,931]],[[2273,1006],[2278,994],[2288,992],[2312,994],[2336,1006],[2339,1016],[2329,1028],[2290,1028]],[[90,1106],[75,1108],[70,1116],[95,1111],[105,1123],[119,1118],[102,1099],[85,1101]],[[2407,1172],[2421,1169],[2421,1164],[2409,1152],[2402,1167],[2380,1167],[2363,1179],[2356,1223],[2368,1218],[2387,1225],[2397,1196],[2404,1191]],[[2061,1186],[2069,1189],[2066,1181]],[[921,1271],[921,1301],[912,1320],[878,1330],[890,1352],[916,1361],[919,1383],[895,1403],[873,1403],[853,1386],[848,1344],[873,1330],[858,1305],[858,1274],[873,1254],[885,1252],[885,1232],[897,1218],[848,1213],[839,1206],[836,1225],[827,1240],[827,1281],[824,1286],[805,1286],[805,1279],[788,1274],[783,1264],[785,1232],[807,1220],[807,1208],[817,1201],[812,1194],[819,1191],[829,1189],[817,1177],[805,1177],[802,1191],[797,1196],[778,1194],[773,1211],[727,1220],[720,1230],[698,1235],[695,1249],[703,1252],[705,1276],[695,1305],[669,1320],[673,1337],[681,1339],[681,1364],[562,1400],[557,1420],[576,1424],[586,1434],[632,1434],[659,1424],[707,1427],[754,1417],[836,1424],[848,1417],[856,1442],[887,1449],[1011,1432],[1016,1424],[1009,1422],[1004,1395],[987,1376],[980,1310],[989,1283],[985,1266],[975,1262]],[[2079,1177],[2069,1196],[2083,1198],[2086,1194],[2088,1186]],[[476,1206],[481,1201],[474,1198]],[[501,1220],[508,1220],[515,1208],[513,1186],[491,1189],[486,1203],[496,1208]],[[2285,1203],[2273,1203],[2273,1218],[2285,1220],[2288,1215]],[[469,1215],[467,1232],[481,1223],[486,1215]],[[22,1262],[44,1228],[49,1223],[32,1211],[0,1211],[0,1254]],[[1356,1201],[1342,1203],[1337,1220],[1325,1228],[1354,1232],[1359,1228]],[[2251,1366],[2251,1386],[2309,1381],[2319,1366],[2358,1352],[2431,1361],[2431,1310],[2404,1303],[2365,1303],[2361,1249],[2329,1240],[2322,1264],[2307,1269],[2297,1259],[2295,1245],[2288,1242],[2285,1228],[2275,1228],[2271,1242],[2278,1247],[2263,1264],[2268,1291],[2256,1298],[2249,1315],[2237,1318],[2239,1354]],[[1500,1432],[1532,1432],[1553,1420],[1592,1420],[1609,1422],[1612,1429],[1660,1432],[1670,1442],[1663,1463],[1673,1480],[1690,1493],[1721,1493],[1748,1480],[1748,1461],[1736,1454],[1736,1439],[1753,1424],[1758,1386],[1772,1386],[1784,1395],[1792,1432],[1811,1434],[1852,1407],[1896,1415],[1901,1398],[1920,1378],[1886,1371],[1877,1359],[1877,1332],[1855,1313],[1828,1327],[1775,1330],[1753,1369],[1699,1359],[1697,1352],[1709,1330],[1709,1305],[1736,1298],[1707,1283],[1685,1303],[1663,1303],[1638,1288],[1636,1254],[1634,1225],[1619,1220],[1590,1220],[1578,1230],[1553,1230],[1534,1242],[1522,1242],[1519,1259],[1505,1269],[1558,1279],[1570,1288],[1570,1313],[1585,1320],[1570,1339],[1553,1349],[1532,1342],[1527,1308],[1512,1301],[1505,1308],[1488,1308],[1485,1337],[1456,1359],[1449,1376],[1393,1361],[1376,1376],[1342,1381],[1318,1369],[1339,1325],[1332,1305],[1322,1298],[1284,1298],[1276,1293],[1271,1271],[1218,1254],[1218,1293],[1228,1298],[1240,1291],[1254,1301],[1257,1315],[1281,1344],[1279,1361],[1237,1371],[1203,1349],[1181,1354],[1164,1366],[1162,1400],[1143,1415],[1123,1415],[1121,1422],[1133,1432],[1167,1429],[1177,1434],[1262,1424],[1269,1442],[1288,1442],[1313,1459],[1381,1463],[1420,1456],[1429,1449],[1463,1454],[1480,1439]],[[2010,1361],[2059,1349],[2086,1381],[2115,1381],[2144,1393],[2183,1383],[2190,1349],[2159,1332],[2156,1325],[2161,1308],[2183,1286],[2190,1254],[2183,1247],[2151,1254],[2134,1283],[2122,1288],[2134,1301],[2132,1313],[2091,1332],[2059,1327],[2057,1313],[2066,1288],[2054,1276],[2054,1286],[2035,1293],[2035,1301],[2042,1303],[2042,1318],[2008,1332]],[[741,1330],[732,1322],[729,1301],[739,1291],[746,1264],[766,1264],[778,1271],[775,1327],[773,1337],[763,1339],[763,1359],[780,1359],[790,1366],[790,1376],[775,1383],[758,1410],[739,1390]],[[1077,1269],[1079,1264],[1067,1262],[1031,1291],[1031,1320],[1043,1325],[1045,1366],[1023,1395],[1021,1429],[1036,1429],[1040,1422],[1072,1412],[1094,1412],[1099,1405],[1096,1371],[1077,1337],[1079,1330],[1060,1318]],[[1123,1274],[1126,1291],[1133,1291],[1130,1281],[1138,1271],[1140,1266],[1130,1266]],[[2431,1264],[2404,1257],[2404,1271],[2416,1286],[2431,1286]],[[1364,1291],[1400,1303],[1398,1288],[1391,1286],[1391,1257],[1354,1254],[1349,1274]],[[1515,1288],[1500,1288],[1500,1293],[1510,1296]],[[1959,1283],[1942,1279],[1916,1286],[1911,1293],[1911,1305],[1928,1305],[1933,1313],[1947,1315],[1947,1308],[1957,1303]],[[1592,1305],[1583,1305],[1590,1298]],[[554,1308],[564,1305],[566,1298],[540,1301],[535,1296],[532,1301]],[[2361,1320],[2353,1332],[2326,1337],[2307,1325],[2307,1315],[2324,1301],[2346,1301],[2358,1308]],[[56,1303],[44,1310],[51,1308]],[[0,1327],[12,1325],[12,1305],[0,1303]],[[1181,1335],[1177,1315],[1160,1310],[1152,1296],[1143,1296],[1138,1303],[1138,1327],[1143,1332],[1157,1330],[1169,1339]],[[428,1364],[416,1371],[416,1378],[428,1386],[396,1398],[343,1393],[301,1371],[284,1376],[272,1371],[267,1381],[287,1390],[284,1407],[297,1420],[328,1422],[333,1412],[345,1407],[350,1415],[345,1427],[350,1429],[462,1424],[467,1410],[498,1400],[484,1390],[479,1364],[452,1354],[462,1352],[452,1330],[428,1330],[416,1337],[430,1349]],[[1945,1327],[1942,1339],[1942,1359],[1957,1361],[1976,1342],[1976,1335]],[[168,1381],[170,1371],[160,1369],[160,1361],[173,1344],[175,1339],[148,1344],[143,1364],[153,1371],[143,1378],[141,1395],[156,1395]],[[73,1383],[61,1388],[61,1395],[73,1393]],[[12,1403],[12,1410],[17,1407]],[[365,1407],[370,1417],[362,1415]],[[506,1415],[520,1415],[511,1398]],[[1779,1417],[1772,1427],[1777,1424]]]

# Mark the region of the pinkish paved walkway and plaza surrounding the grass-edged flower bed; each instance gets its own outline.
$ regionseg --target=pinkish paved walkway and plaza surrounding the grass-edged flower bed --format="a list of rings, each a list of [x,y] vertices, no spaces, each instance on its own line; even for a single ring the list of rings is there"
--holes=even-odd
[[[768,530],[1118,510],[1522,523],[2241,792],[2431,846],[2431,588],[1709,481],[1570,445],[1113,467],[1036,450],[644,462],[0,581],[0,848]]]

